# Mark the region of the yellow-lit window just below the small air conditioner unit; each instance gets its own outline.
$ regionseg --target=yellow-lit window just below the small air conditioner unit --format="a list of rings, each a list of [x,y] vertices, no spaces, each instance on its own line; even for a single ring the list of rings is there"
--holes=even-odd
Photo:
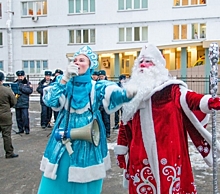
[[[47,31],[23,32],[23,45],[47,45]]]

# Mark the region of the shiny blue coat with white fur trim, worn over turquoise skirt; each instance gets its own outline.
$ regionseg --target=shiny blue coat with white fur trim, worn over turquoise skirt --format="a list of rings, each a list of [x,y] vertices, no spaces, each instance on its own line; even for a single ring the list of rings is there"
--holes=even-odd
[[[70,87],[68,84],[71,84],[71,82],[62,85],[59,83],[59,80],[52,86],[46,87],[43,96],[47,106],[52,107],[55,111],[60,111],[40,166],[40,169],[44,172],[43,176],[53,180],[57,177],[60,160],[62,160],[64,152],[67,151],[65,145],[55,139],[55,131],[58,128],[65,127],[70,101],[67,97],[70,90],[67,90],[67,88]],[[106,112],[111,114],[120,109],[123,103],[130,100],[126,96],[126,91],[118,87],[116,83],[105,80],[99,82],[91,81],[91,83],[91,104],[100,127],[100,144],[96,147],[84,140],[74,140],[71,142],[74,153],[69,157],[68,182],[86,183],[102,179],[106,176],[106,170],[111,167],[111,163],[105,127],[98,107],[103,104]],[[89,108],[89,100],[81,109],[70,107],[68,130],[83,127],[93,120]]]

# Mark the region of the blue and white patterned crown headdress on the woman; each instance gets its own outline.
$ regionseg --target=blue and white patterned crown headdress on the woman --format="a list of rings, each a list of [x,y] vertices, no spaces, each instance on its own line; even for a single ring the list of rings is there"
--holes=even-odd
[[[98,67],[98,56],[92,52],[92,49],[89,46],[83,46],[80,48],[79,51],[74,54],[73,58],[82,54],[89,58],[91,62],[90,69],[96,69]]]

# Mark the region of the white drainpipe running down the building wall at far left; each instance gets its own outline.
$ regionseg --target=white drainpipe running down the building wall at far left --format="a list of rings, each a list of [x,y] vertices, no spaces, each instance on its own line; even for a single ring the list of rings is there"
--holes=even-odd
[[[6,29],[7,29],[7,35],[8,35],[8,74],[6,76],[6,81],[14,81],[15,75],[14,75],[14,66],[13,66],[13,44],[12,44],[12,15],[14,15],[14,12],[12,12],[12,4],[11,0],[7,0],[7,14],[8,14],[8,20],[6,21]]]

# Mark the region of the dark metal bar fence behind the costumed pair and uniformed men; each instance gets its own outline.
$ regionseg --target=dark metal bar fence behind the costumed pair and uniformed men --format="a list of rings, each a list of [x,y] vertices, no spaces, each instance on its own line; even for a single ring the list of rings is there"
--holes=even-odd
[[[44,77],[37,77],[37,76],[27,76],[27,78],[29,79],[29,81],[31,82],[33,89],[34,89],[34,93],[36,92],[38,83],[44,78]],[[117,82],[118,81],[118,77],[109,77],[108,78],[111,81]],[[177,79],[183,80],[187,85],[188,88],[200,93],[200,94],[208,94],[209,93],[209,77],[177,77]],[[218,88],[218,91],[220,92],[220,86]]]

